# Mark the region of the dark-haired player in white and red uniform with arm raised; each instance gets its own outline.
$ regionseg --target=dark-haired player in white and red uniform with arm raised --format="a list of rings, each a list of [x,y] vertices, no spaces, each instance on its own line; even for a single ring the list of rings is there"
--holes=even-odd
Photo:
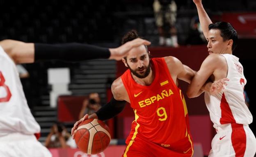
[[[212,23],[201,0],[197,6],[203,34],[208,41],[209,56],[190,84],[188,97],[197,96],[201,86],[212,80],[228,78],[229,82],[217,95],[205,93],[206,106],[217,134],[212,141],[209,157],[254,157],[256,138],[249,128],[253,117],[245,104],[246,79],[239,58],[233,55],[238,35],[228,22]]]

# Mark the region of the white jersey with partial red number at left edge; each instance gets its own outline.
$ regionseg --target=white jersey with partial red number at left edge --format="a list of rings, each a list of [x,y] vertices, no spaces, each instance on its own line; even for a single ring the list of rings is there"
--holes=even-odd
[[[16,65],[0,46],[0,137],[17,132],[32,135],[40,126],[27,105]]]

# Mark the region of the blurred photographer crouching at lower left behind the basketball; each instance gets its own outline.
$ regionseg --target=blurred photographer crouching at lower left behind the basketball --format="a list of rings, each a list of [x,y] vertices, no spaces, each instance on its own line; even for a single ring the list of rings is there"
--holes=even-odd
[[[61,123],[53,124],[46,138],[45,146],[47,148],[76,148],[75,141],[72,139],[71,134]]]

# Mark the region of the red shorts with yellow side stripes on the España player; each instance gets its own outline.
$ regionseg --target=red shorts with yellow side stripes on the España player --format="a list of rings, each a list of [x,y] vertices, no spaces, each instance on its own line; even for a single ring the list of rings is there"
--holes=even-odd
[[[127,141],[122,157],[192,157],[193,155],[192,139],[189,140],[189,137],[181,139],[171,146],[161,146],[138,135],[134,140]]]

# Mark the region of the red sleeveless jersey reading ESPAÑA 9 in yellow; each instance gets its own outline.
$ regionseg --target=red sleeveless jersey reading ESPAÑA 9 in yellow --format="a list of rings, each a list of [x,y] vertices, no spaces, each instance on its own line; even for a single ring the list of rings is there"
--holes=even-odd
[[[136,137],[142,137],[163,147],[184,140],[192,146],[181,90],[172,80],[164,58],[153,58],[151,64],[155,78],[149,86],[137,84],[129,69],[121,76],[135,113],[126,142],[131,145]]]

